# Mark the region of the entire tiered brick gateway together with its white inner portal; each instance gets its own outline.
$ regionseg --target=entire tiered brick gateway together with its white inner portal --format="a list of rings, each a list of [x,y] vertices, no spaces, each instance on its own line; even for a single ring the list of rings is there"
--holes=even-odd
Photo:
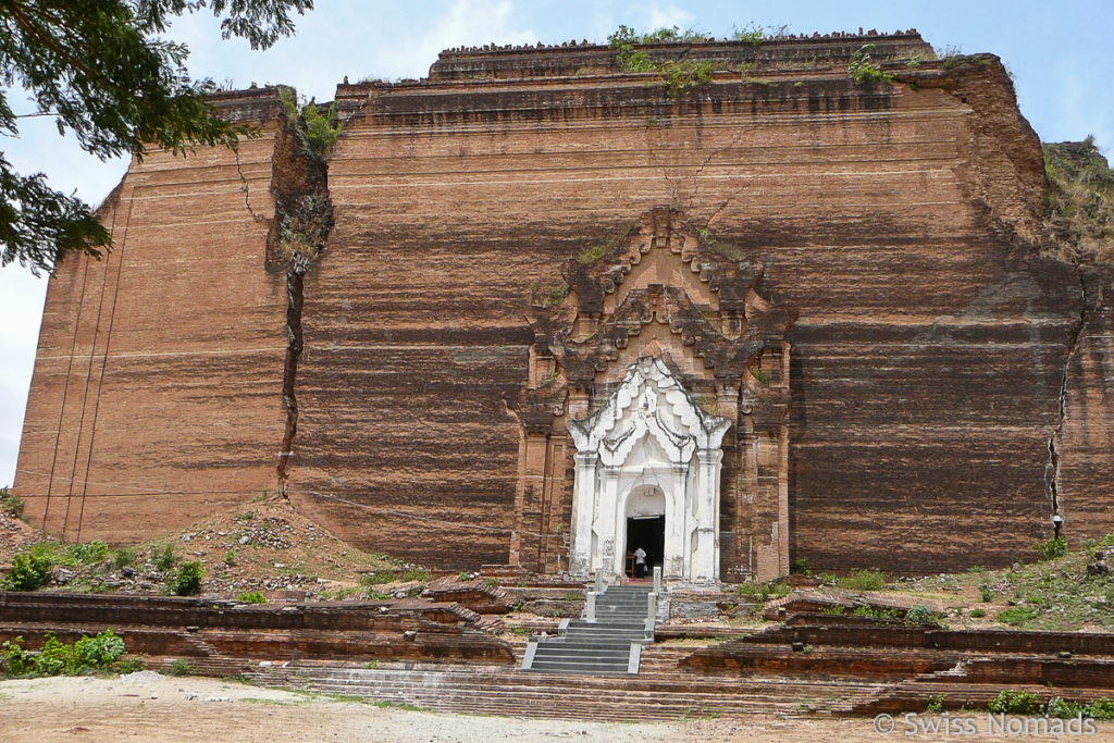
[[[589,250],[590,248],[590,250]],[[531,290],[508,559],[673,581],[789,573],[791,307],[721,235],[655,207]],[[697,404],[698,400],[698,404]]]

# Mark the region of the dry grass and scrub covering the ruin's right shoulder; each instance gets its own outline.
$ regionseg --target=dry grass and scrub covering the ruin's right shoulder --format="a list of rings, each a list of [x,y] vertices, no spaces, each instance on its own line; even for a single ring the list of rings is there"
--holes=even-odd
[[[1058,257],[1114,264],[1114,170],[1095,138],[1042,148],[1048,177],[1045,224]]]

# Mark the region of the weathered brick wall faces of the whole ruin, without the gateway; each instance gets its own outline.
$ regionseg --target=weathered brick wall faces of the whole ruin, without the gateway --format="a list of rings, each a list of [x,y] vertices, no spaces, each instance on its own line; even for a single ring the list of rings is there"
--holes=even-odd
[[[341,86],[335,226],[305,280],[295,501],[377,550],[505,563],[531,285],[668,206],[760,260],[756,291],[799,313],[791,557],[1001,565],[1048,536],[1054,491],[1073,537],[1114,528],[1110,280],[1028,246],[1044,176],[1005,71],[924,61],[895,66],[916,87],[859,86],[847,57],[867,40],[927,50],[763,46],[749,79],[717,72],[678,99],[593,47],[446,52],[429,80]],[[720,47],[693,53],[743,55]],[[50,528],[75,534],[68,504],[82,538],[126,540],[271,481],[285,338],[255,219],[272,208],[268,143],[246,143],[238,172],[226,151],[133,167],[106,207],[117,252],[52,281],[20,469],[55,478],[16,483],[32,518],[50,482]],[[65,478],[127,487],[82,489],[82,517]],[[747,509],[725,505],[724,530]]]

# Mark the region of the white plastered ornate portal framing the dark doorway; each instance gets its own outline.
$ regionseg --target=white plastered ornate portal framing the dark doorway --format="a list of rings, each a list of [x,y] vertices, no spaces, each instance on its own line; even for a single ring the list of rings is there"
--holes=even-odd
[[[720,578],[720,446],[731,420],[705,412],[654,356],[627,368],[592,416],[568,421],[576,444],[573,575],[625,571],[627,517],[664,516],[663,574]],[[654,512],[661,509],[661,512]]]

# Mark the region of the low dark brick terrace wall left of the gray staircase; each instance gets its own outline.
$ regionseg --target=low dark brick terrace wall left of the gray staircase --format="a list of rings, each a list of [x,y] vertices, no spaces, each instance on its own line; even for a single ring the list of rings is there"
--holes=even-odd
[[[0,592],[0,642],[29,647],[47,634],[72,642],[114,628],[129,653],[202,661],[515,662],[494,618],[424,600],[237,605],[206,598]],[[214,667],[223,667],[216,664]]]

